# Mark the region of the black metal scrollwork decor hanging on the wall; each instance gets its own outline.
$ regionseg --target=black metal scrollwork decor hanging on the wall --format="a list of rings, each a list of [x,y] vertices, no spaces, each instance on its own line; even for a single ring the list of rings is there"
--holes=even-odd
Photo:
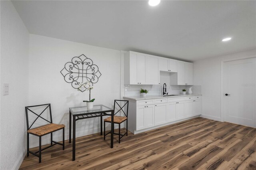
[[[78,89],[80,83],[89,81],[92,85],[97,83],[101,73],[99,67],[93,64],[90,58],[84,54],[79,57],[73,57],[70,62],[67,62],[64,68],[60,71],[64,80],[71,83],[72,87]],[[86,89],[82,89],[84,92]]]

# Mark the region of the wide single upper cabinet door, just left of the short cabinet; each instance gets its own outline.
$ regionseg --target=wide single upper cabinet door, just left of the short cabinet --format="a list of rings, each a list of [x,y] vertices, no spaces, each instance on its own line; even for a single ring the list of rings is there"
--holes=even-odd
[[[146,58],[146,84],[158,85],[158,57],[147,55]]]

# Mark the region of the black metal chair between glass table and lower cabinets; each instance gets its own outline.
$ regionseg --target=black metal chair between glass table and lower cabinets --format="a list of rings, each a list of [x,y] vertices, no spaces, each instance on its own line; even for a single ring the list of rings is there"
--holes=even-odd
[[[120,102],[124,102],[124,105],[121,107],[117,101],[120,101]],[[120,143],[120,139],[122,137],[124,137],[124,135],[128,136],[128,106],[129,106],[129,101],[127,100],[115,100],[114,101],[114,111],[116,109],[116,104],[119,106],[119,110],[117,112],[114,113],[114,124],[118,124],[119,125],[119,133],[114,133],[114,134],[117,134],[119,135],[119,143]],[[126,110],[126,113],[124,112],[123,108],[127,105],[127,110]],[[124,113],[125,117],[122,117],[122,116],[115,116],[116,113],[118,113],[119,111],[121,111]],[[126,121],[126,132],[124,134],[120,134],[120,124],[123,123],[124,121]],[[106,134],[106,122],[108,123],[111,123],[111,116],[104,119],[104,140],[106,139],[106,135],[108,135],[110,132],[108,132]],[[122,137],[121,137],[122,136]]]

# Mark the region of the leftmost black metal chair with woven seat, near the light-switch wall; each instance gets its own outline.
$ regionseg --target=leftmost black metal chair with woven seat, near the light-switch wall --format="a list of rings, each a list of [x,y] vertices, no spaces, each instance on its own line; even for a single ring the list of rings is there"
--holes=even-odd
[[[34,111],[31,110],[32,108],[43,107],[43,106],[46,106],[46,108],[40,114],[37,114],[37,113],[35,113]],[[50,121],[41,117],[42,113],[44,113],[44,111],[46,111],[47,108],[49,108],[49,111],[50,111]],[[28,140],[27,141],[27,156],[29,156],[29,153],[34,155],[34,156],[37,156],[39,158],[39,163],[40,163],[41,162],[41,155],[42,155],[41,152],[42,152],[42,150],[50,148],[51,146],[54,146],[55,144],[62,145],[62,150],[64,150],[64,128],[65,128],[65,125],[59,125],[59,124],[52,123],[51,104],[27,106],[27,107],[25,107],[25,110],[26,110],[27,140]],[[28,111],[30,111],[31,113],[34,113],[37,116],[37,118],[33,121],[33,123],[31,125],[29,125],[29,123],[28,123],[28,113],[29,113]],[[38,120],[39,117],[41,119],[43,119],[44,121],[47,121],[50,124],[30,129],[32,127],[32,125],[34,125],[36,120]],[[52,132],[55,132],[55,131],[61,130],[61,129],[63,130],[63,141],[62,141],[62,143],[53,141],[52,140]],[[29,150],[29,134],[33,134],[33,135],[39,137],[39,150],[37,152],[32,152],[32,151]],[[46,134],[51,134],[51,145],[42,149],[41,148],[41,137],[46,135]],[[54,144],[52,144],[52,143],[54,143]],[[37,153],[39,153],[39,154],[37,154]]]

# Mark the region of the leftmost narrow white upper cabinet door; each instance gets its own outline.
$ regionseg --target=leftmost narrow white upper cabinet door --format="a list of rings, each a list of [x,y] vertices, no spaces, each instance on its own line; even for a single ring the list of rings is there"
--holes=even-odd
[[[130,84],[138,84],[137,80],[137,54],[130,53]]]

